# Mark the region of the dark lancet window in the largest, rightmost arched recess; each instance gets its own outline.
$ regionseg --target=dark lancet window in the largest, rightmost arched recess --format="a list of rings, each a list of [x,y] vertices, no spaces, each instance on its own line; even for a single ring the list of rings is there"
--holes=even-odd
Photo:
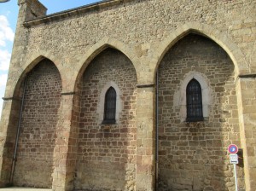
[[[201,85],[193,78],[187,85],[187,121],[195,122],[203,120]]]

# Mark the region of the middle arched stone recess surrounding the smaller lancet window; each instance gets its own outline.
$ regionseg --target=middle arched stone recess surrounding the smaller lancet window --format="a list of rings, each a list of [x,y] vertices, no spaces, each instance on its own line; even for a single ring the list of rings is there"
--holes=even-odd
[[[130,58],[113,46],[117,45],[104,42],[86,54],[77,79],[80,118],[74,189],[135,186],[137,72]],[[115,124],[102,124],[101,98],[109,87],[116,90],[122,109]]]

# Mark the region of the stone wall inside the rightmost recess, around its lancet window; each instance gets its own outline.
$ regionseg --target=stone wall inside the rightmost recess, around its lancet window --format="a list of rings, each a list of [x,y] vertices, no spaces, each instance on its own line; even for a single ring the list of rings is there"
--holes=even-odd
[[[183,121],[183,98],[176,103],[174,96],[189,72],[201,73],[212,90],[209,115],[201,122]],[[234,142],[240,146],[239,137],[232,61],[210,39],[184,37],[159,67],[159,190],[230,190],[233,166],[226,148]],[[244,190],[242,169],[238,175]]]

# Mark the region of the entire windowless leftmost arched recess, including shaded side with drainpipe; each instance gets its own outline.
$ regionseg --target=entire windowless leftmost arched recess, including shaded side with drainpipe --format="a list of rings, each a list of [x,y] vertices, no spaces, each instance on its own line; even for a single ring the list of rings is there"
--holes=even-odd
[[[44,56],[38,56],[28,64],[17,80],[11,98],[13,109],[7,127],[7,148],[4,148],[8,153],[3,156],[8,163],[5,170],[15,186],[52,186],[55,128],[59,119],[61,90],[61,74],[55,63]],[[16,140],[17,128],[20,134]]]

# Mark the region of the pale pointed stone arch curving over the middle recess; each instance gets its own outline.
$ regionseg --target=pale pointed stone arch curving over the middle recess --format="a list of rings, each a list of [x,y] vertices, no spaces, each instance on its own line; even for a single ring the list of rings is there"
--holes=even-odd
[[[119,50],[121,53],[127,56],[127,58],[131,61],[133,67],[136,70],[136,73],[138,74],[138,66],[139,61],[137,60],[137,57],[135,56],[135,52],[131,50],[125,43],[122,43],[116,39],[113,38],[103,38],[98,43],[94,44],[90,49],[84,50],[84,55],[80,56],[79,63],[78,63],[78,71],[75,79],[74,84],[78,84],[79,79],[83,75],[86,67],[90,64],[90,61],[92,61],[96,55],[99,55],[103,50],[113,48]],[[138,75],[137,75],[138,76]],[[74,87],[75,90],[75,87]]]

